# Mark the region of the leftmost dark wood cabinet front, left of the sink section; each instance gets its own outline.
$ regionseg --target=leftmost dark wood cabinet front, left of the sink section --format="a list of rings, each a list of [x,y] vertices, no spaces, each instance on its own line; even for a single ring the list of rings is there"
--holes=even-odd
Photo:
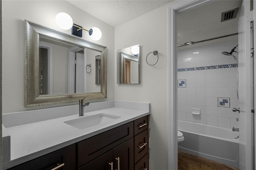
[[[24,164],[18,165],[9,170],[51,170],[59,165],[62,170],[76,169],[76,145],[70,145],[66,148],[46,154]]]

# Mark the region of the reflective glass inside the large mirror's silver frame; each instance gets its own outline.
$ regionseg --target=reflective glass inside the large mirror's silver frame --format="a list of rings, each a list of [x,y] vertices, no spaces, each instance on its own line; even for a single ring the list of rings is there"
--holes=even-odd
[[[39,36],[39,61],[40,94],[100,92],[99,51]]]

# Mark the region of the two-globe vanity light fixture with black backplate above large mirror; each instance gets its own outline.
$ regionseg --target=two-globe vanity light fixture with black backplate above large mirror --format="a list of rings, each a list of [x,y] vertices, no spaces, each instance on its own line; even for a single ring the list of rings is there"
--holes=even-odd
[[[63,30],[69,30],[72,28],[72,35],[82,37],[82,30],[89,32],[90,38],[94,41],[100,40],[102,33],[99,28],[92,27],[90,30],[86,30],[81,26],[73,23],[71,16],[64,12],[60,12],[56,15],[56,23]]]

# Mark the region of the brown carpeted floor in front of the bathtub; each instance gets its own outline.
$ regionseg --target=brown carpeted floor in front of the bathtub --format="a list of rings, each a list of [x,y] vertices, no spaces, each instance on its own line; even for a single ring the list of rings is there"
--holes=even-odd
[[[236,168],[178,151],[178,170],[238,170]]]

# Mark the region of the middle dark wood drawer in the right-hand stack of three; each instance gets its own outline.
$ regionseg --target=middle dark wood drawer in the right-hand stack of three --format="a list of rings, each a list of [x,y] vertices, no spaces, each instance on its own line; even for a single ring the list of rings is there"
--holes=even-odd
[[[148,153],[148,129],[134,137],[134,163]]]

